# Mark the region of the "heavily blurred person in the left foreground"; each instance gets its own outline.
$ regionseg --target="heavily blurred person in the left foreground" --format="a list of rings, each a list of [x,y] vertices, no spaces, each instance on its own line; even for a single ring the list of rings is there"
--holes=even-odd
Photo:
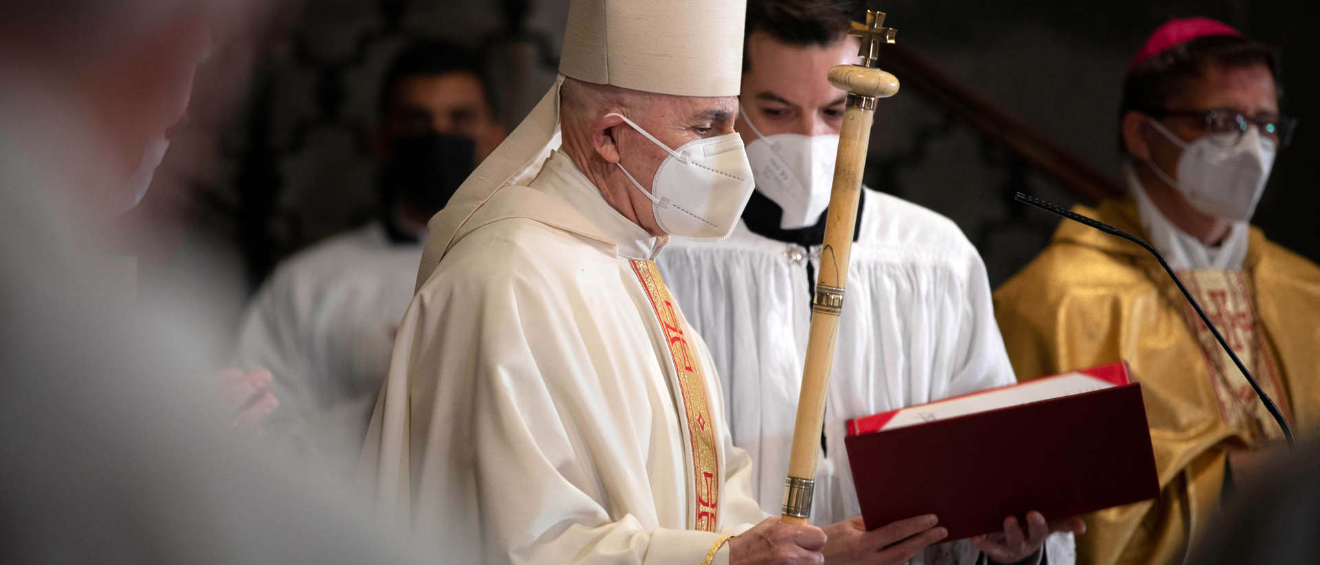
[[[152,184],[187,200],[279,8],[0,1],[3,562],[407,562],[360,500],[231,431],[219,332],[181,306],[209,288],[139,311],[108,244],[158,140],[185,136]]]

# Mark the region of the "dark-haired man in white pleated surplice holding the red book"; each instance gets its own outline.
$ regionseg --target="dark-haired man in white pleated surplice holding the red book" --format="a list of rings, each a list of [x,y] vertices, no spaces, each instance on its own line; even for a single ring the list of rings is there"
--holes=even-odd
[[[734,445],[752,458],[752,494],[767,512],[783,502],[843,120],[846,92],[826,74],[857,62],[847,29],[861,16],[861,0],[748,0],[737,129],[756,191],[727,241],[676,238],[657,259],[710,346]],[[1014,383],[985,265],[962,230],[871,188],[858,207],[816,474],[812,515],[825,523],[861,512],[843,448],[849,419]],[[1008,520],[1006,532],[933,545],[913,561],[970,565],[982,551],[999,562],[1045,558],[1044,516]],[[1052,540],[1047,561],[1071,564],[1071,531]],[[895,562],[912,557],[899,549]]]

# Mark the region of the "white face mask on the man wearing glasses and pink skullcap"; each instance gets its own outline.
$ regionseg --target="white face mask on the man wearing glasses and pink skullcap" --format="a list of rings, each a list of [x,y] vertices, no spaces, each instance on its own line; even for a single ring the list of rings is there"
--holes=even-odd
[[[1232,221],[1251,219],[1274,167],[1278,149],[1272,141],[1250,128],[1233,146],[1214,145],[1210,136],[1188,144],[1159,121],[1148,120],[1156,132],[1183,148],[1183,157],[1177,159],[1177,179],[1150,162],[1160,180],[1181,192],[1187,203],[1201,213]]]

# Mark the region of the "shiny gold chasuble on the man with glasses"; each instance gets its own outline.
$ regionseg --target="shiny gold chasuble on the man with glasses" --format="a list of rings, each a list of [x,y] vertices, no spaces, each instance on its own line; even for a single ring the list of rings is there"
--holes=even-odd
[[[1135,204],[1078,213],[1143,236]],[[1299,436],[1320,425],[1320,267],[1255,228],[1241,273],[1180,274]],[[1126,361],[1142,383],[1158,500],[1086,516],[1080,564],[1172,564],[1220,506],[1228,453],[1280,432],[1177,287],[1143,249],[1063,221],[994,294],[1019,379]]]

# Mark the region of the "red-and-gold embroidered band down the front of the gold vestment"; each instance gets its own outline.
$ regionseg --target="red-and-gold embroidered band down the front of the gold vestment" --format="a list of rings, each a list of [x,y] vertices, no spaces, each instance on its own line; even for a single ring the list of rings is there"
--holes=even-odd
[[[1246,277],[1241,271],[1221,270],[1188,270],[1179,271],[1177,275],[1196,302],[1201,303],[1205,315],[1220,328],[1224,341],[1228,341],[1261,389],[1287,416],[1288,402],[1283,396],[1278,365],[1266,336],[1259,331],[1255,300],[1247,287]],[[1283,432],[1274,423],[1274,417],[1257,399],[1251,385],[1220,346],[1210,328],[1196,315],[1192,304],[1184,300],[1183,306],[1188,325],[1201,345],[1206,369],[1214,381],[1220,417],[1226,424],[1243,429],[1249,441],[1259,444],[1282,439]]]

